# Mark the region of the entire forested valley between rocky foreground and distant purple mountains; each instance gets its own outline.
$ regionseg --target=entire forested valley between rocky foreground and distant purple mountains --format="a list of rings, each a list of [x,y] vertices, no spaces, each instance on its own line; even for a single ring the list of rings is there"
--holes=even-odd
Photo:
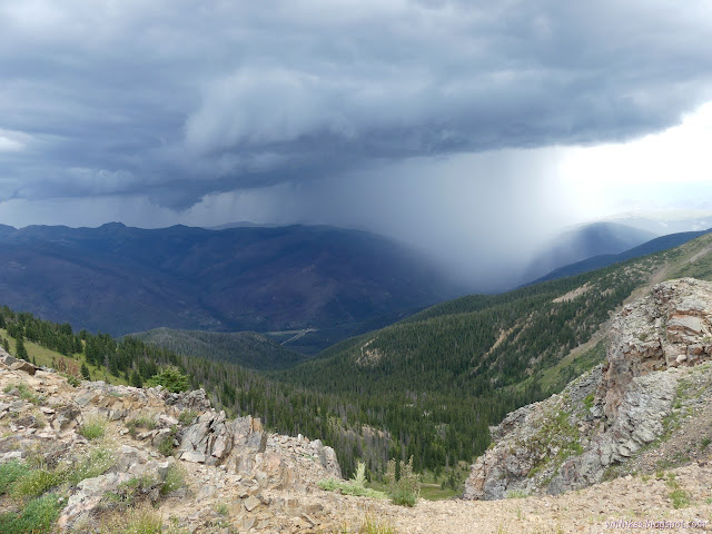
[[[134,340],[83,333],[102,356],[73,357],[126,384],[177,365],[228,413],[324,439],[346,472],[364,461],[377,478],[388,458],[413,457],[416,471],[457,486],[457,466],[486,449],[490,426],[603,360],[607,322],[624,303],[662,279],[712,276],[709,246],[701,236],[574,277],[445,301],[312,358],[256,333],[170,329]]]

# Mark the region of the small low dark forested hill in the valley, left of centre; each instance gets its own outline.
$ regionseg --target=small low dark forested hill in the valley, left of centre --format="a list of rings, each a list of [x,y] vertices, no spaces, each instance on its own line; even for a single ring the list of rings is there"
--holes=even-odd
[[[176,354],[227,362],[250,369],[280,369],[306,359],[304,355],[255,332],[218,333],[155,328],[130,336]]]

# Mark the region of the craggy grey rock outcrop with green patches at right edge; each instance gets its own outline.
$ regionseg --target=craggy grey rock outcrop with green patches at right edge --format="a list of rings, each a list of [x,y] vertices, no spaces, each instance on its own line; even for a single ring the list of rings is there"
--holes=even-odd
[[[712,358],[712,284],[656,285],[612,320],[606,363],[561,395],[524,406],[491,428],[465,498],[561,493],[602,479],[664,432],[679,380]]]

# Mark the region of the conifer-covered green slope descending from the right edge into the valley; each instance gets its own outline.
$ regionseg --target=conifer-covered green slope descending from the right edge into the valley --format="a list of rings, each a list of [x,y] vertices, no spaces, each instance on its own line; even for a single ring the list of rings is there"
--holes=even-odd
[[[419,467],[468,461],[505,412],[603,360],[605,324],[623,303],[664,279],[712,279],[711,251],[705,235],[592,273],[462,297],[271,376],[350,398],[365,423],[402,436],[403,457]]]

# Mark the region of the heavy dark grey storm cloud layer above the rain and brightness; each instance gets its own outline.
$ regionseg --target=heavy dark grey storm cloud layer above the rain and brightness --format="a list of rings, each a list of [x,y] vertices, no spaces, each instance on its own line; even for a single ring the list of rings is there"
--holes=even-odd
[[[673,1],[0,0],[0,200],[207,194],[621,140],[712,95]]]

